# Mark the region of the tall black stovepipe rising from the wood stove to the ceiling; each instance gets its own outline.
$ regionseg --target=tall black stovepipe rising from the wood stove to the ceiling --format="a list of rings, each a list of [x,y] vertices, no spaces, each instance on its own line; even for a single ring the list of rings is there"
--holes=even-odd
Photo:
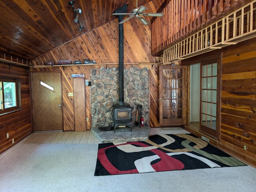
[[[124,5],[114,13],[127,13],[127,6]],[[116,15],[120,23],[124,15]],[[119,24],[119,105],[124,105],[124,24]]]

